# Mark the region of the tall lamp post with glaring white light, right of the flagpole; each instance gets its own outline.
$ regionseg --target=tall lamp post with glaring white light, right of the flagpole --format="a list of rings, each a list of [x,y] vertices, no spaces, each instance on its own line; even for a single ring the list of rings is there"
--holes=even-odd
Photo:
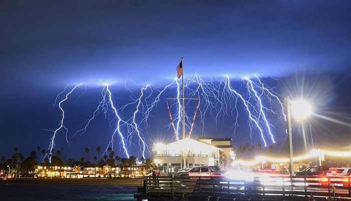
[[[312,114],[312,107],[309,103],[304,100],[296,100],[290,102],[289,97],[285,97],[285,110],[286,110],[286,131],[288,134],[288,147],[289,147],[289,159],[290,159],[290,175],[293,176],[294,173],[294,161],[293,161],[293,152],[292,152],[292,131],[291,131],[291,114],[298,121],[303,121],[309,115]]]

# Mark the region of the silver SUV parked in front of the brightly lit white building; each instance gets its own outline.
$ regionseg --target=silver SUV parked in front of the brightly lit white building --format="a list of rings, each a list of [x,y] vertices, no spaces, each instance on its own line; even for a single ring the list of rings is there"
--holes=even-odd
[[[180,176],[224,176],[224,173],[218,166],[197,166],[180,173]]]

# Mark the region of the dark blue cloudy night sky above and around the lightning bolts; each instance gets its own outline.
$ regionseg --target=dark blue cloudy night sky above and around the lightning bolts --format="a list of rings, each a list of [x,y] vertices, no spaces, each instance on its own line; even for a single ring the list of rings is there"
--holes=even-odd
[[[1,1],[0,156],[11,157],[14,147],[25,155],[49,147],[52,132],[44,129],[58,127],[61,112],[53,104],[66,85],[84,83],[64,105],[72,136],[101,99],[99,80],[111,83],[118,108],[146,84],[172,82],[182,56],[186,78],[229,75],[240,87],[240,78],[257,74],[281,100],[305,97],[315,113],[351,124],[350,19],[350,1]],[[142,128],[149,145],[172,141],[164,99],[174,95],[172,88],[160,97]],[[133,111],[121,115],[130,118]],[[230,121],[216,125],[207,118],[203,134],[197,119],[195,137],[229,137],[235,147],[262,143],[257,133],[250,138],[247,117],[240,115],[236,132]],[[271,121],[277,143],[269,145],[282,150],[285,122]],[[300,126],[293,128],[296,152],[303,152]],[[316,117],[305,127],[317,148],[351,144],[350,127]],[[70,146],[59,133],[55,148],[78,159],[89,147],[94,156],[112,132],[99,115]],[[125,157],[118,142],[116,155]],[[138,156],[137,146],[129,149]]]

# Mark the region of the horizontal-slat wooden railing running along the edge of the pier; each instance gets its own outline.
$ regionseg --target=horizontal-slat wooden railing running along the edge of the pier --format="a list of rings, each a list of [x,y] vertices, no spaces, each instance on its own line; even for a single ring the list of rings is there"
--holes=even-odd
[[[146,196],[161,197],[211,194],[351,197],[350,177],[319,176],[264,176],[251,180],[148,176],[143,191]]]

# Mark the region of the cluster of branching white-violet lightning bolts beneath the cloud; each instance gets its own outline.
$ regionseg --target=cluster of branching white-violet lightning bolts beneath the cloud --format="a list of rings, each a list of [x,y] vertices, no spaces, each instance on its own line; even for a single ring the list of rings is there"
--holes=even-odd
[[[125,84],[125,89],[130,92],[131,101],[125,105],[118,105],[114,102],[113,94],[107,83],[102,83],[101,96],[102,99],[97,105],[95,111],[93,111],[92,116],[84,122],[84,127],[72,136],[75,137],[77,134],[83,135],[90,122],[95,119],[100,112],[104,113],[105,119],[109,121],[110,128],[113,129],[111,140],[107,143],[104,154],[107,152],[108,148],[111,147],[113,150],[114,142],[116,135],[119,137],[119,149],[120,152],[123,152],[128,158],[129,153],[128,149],[131,147],[138,147],[138,155],[145,158],[145,152],[150,152],[147,146],[145,137],[150,134],[146,131],[148,125],[148,120],[151,115],[151,111],[154,110],[159,102],[161,101],[162,94],[174,94],[174,101],[170,105],[172,111],[175,111],[174,119],[172,123],[175,123],[173,127],[175,129],[175,140],[179,140],[179,133],[182,131],[182,114],[183,110],[186,112],[186,130],[190,130],[190,125],[192,124],[193,118],[191,117],[192,112],[188,109],[191,107],[190,102],[187,102],[185,109],[181,104],[181,84],[178,79],[172,80],[169,84],[158,87],[146,85],[141,87],[140,95],[135,96],[131,89]],[[236,82],[237,83],[237,82]],[[135,83],[134,83],[135,84]],[[64,128],[66,130],[66,140],[69,143],[67,133],[68,130],[64,126],[64,110],[62,108],[62,103],[68,99],[68,96],[81,84],[75,85],[62,99],[58,107],[62,112],[62,119],[59,124],[59,128],[53,130],[54,135],[51,138],[49,150],[51,151],[55,146],[55,137],[57,132]],[[60,95],[63,94],[70,85],[67,85],[63,91],[61,91],[55,100],[54,108]],[[241,80],[241,85],[238,89],[235,86],[232,86],[232,81],[228,76],[216,77],[216,78],[207,78],[204,79],[198,75],[194,75],[185,80],[185,96],[190,98],[200,98],[201,106],[199,108],[200,113],[200,125],[202,128],[202,135],[205,134],[205,117],[210,115],[216,126],[219,124],[218,121],[221,119],[223,122],[226,116],[232,116],[233,129],[234,132],[238,127],[238,118],[239,118],[239,103],[242,103],[240,106],[244,106],[244,111],[248,117],[248,126],[250,128],[250,137],[252,134],[257,133],[262,139],[262,142],[267,146],[267,137],[269,137],[272,143],[275,143],[274,135],[272,133],[273,124],[270,123],[268,117],[277,116],[279,119],[284,117],[285,114],[283,110],[283,104],[279,99],[278,94],[273,91],[273,88],[266,87],[264,83],[256,75],[254,79],[244,78]],[[175,91],[174,91],[175,88]],[[243,90],[245,89],[245,90]],[[175,93],[172,93],[174,91]],[[244,91],[244,92],[242,92]],[[86,92],[86,89],[83,93],[79,95],[81,97]],[[78,97],[78,98],[79,98]],[[118,95],[117,95],[118,97]],[[77,98],[77,100],[78,100]],[[77,102],[76,100],[76,102]],[[268,106],[265,106],[264,103],[268,103]],[[273,105],[281,107],[279,111],[274,111]],[[122,118],[119,113],[123,112],[126,108],[129,108],[128,111],[134,110],[129,118]],[[269,113],[269,115],[267,115]],[[166,113],[165,113],[166,114]],[[112,118],[111,118],[112,117]],[[168,125],[168,129],[172,128],[171,123]],[[135,142],[135,136],[137,139],[137,144]],[[190,133],[189,135],[190,136]],[[50,153],[50,152],[49,152]],[[50,155],[49,155],[50,157]]]

